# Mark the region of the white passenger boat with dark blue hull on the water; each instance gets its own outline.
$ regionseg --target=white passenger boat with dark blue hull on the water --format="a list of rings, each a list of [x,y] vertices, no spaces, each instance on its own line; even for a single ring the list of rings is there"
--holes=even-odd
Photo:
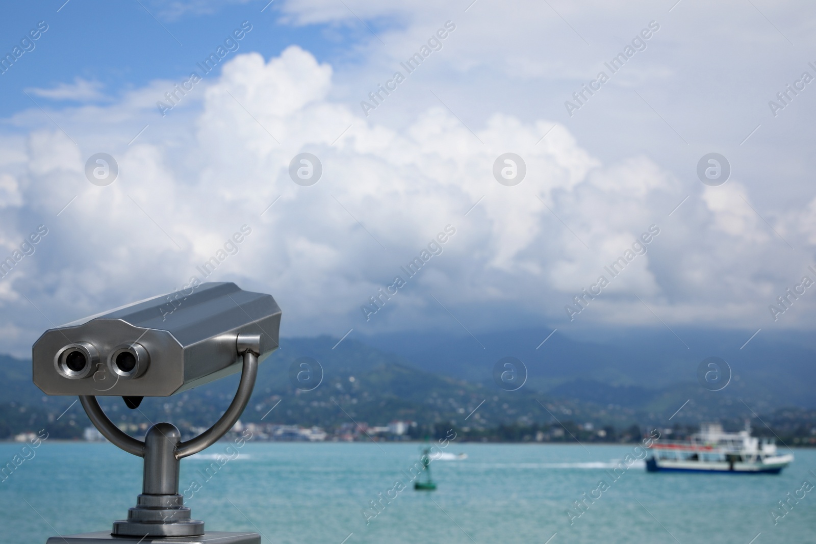
[[[778,474],[793,461],[793,454],[779,455],[774,440],[751,436],[745,430],[725,432],[719,423],[703,423],[690,440],[655,440],[646,458],[646,471],[734,472]]]

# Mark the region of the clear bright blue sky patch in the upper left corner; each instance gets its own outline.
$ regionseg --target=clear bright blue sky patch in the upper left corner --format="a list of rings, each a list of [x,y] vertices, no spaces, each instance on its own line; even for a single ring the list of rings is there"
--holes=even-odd
[[[25,89],[55,86],[75,77],[100,82],[117,94],[128,86],[186,76],[245,20],[251,22],[253,31],[242,48],[267,57],[295,43],[308,46],[318,60],[348,62],[346,47],[361,33],[361,29],[341,25],[277,24],[274,2],[263,12],[265,2],[250,2],[175,16],[162,11],[163,4],[70,0],[67,4],[22,2],[8,7],[0,20],[0,34],[6,38],[4,52],[11,51],[18,35],[22,38],[39,21],[45,20],[49,29],[37,41],[36,53],[26,55],[24,62],[3,74],[0,115],[7,117],[29,107]]]

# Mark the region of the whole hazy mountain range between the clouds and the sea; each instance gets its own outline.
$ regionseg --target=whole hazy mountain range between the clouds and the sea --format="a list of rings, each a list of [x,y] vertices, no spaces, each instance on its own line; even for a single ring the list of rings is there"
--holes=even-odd
[[[740,350],[751,332],[676,330],[680,340],[669,331],[641,330],[592,342],[557,332],[542,343],[550,332],[483,334],[478,341],[410,333],[340,343],[328,336],[284,338],[260,366],[242,420],[330,428],[401,419],[473,429],[569,421],[623,429],[633,423],[737,424],[743,418],[755,418],[757,426],[761,416],[800,431],[816,424],[816,350],[807,336],[758,334]],[[517,391],[503,391],[493,381],[494,365],[504,356],[526,365],[527,381]],[[707,356],[720,356],[733,370],[722,391],[697,382],[697,367]],[[313,373],[312,383],[320,378],[317,369],[297,366],[302,357],[322,366],[322,382],[313,391],[295,387],[309,388],[308,380],[295,379],[304,369]],[[31,383],[30,365],[0,356],[0,437],[45,424],[78,435],[89,424],[82,408],[73,405],[60,417],[75,399],[44,396]],[[117,422],[166,419],[192,429],[220,416],[237,380],[233,375],[178,396],[147,398],[138,410],[116,397],[103,405]]]

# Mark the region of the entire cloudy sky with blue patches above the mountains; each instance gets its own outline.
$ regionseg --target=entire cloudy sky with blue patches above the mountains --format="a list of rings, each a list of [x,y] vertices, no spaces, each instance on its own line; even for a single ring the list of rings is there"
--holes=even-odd
[[[51,325],[187,285],[244,226],[246,242],[200,279],[272,293],[284,334],[807,328],[813,11],[690,0],[7,8],[0,51],[39,21],[48,30],[0,74],[0,262],[12,259],[0,351],[24,354]],[[237,51],[162,115],[157,102],[243,21],[252,30]],[[100,153],[118,168],[109,184],[91,179]],[[314,184],[290,174],[301,153],[321,162]],[[698,176],[711,153],[730,166],[723,184]],[[507,157],[524,163],[518,184],[500,182]],[[25,249],[41,225],[47,235]],[[421,272],[395,287],[417,257]],[[605,272],[621,258],[623,272]],[[784,312],[771,312],[783,295]]]

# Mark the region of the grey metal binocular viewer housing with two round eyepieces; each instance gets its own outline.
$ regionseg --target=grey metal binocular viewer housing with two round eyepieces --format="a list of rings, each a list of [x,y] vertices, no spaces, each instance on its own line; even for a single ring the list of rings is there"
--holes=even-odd
[[[170,396],[241,369],[238,334],[277,347],[271,295],[206,283],[47,330],[33,346],[34,383],[48,395]],[[84,361],[84,362],[83,362]]]

